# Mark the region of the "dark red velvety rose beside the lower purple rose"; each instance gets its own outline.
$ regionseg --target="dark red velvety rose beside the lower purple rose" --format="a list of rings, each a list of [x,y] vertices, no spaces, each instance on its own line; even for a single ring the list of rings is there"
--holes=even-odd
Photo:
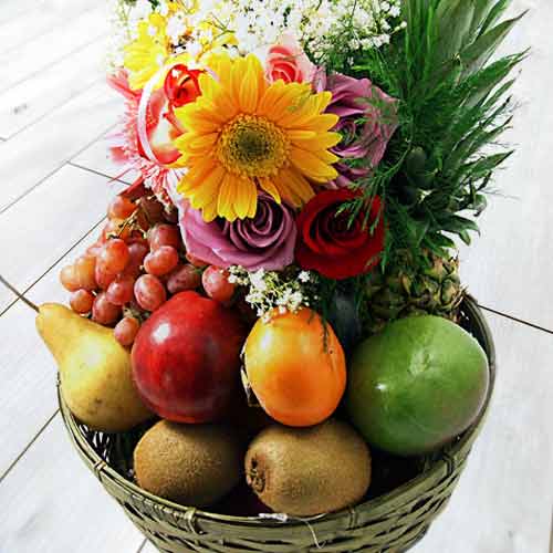
[[[384,249],[385,225],[380,198],[375,197],[366,212],[361,211],[348,225],[351,213],[336,215],[357,192],[347,188],[325,190],[310,200],[298,217],[295,257],[302,269],[319,271],[328,279],[343,280],[371,271]],[[373,232],[374,222],[378,223]]]

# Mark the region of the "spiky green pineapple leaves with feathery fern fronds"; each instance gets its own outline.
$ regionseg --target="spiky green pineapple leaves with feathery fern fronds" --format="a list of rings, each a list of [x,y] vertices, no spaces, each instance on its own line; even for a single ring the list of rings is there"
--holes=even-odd
[[[405,0],[405,32],[380,50],[357,52],[353,73],[399,100],[399,128],[386,158],[359,182],[385,200],[389,227],[383,264],[396,251],[447,258],[452,238],[470,243],[494,171],[512,154],[498,144],[509,128],[524,53],[493,59],[519,18],[500,22],[508,0]],[[492,60],[493,61],[490,61]],[[335,67],[352,73],[352,66]],[[417,257],[415,257],[417,259]]]

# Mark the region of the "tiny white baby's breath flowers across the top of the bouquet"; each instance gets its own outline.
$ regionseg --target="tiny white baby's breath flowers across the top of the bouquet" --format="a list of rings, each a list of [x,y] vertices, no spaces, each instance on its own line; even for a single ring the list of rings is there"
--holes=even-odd
[[[403,29],[397,22],[400,0],[160,0],[155,10],[148,0],[114,4],[119,15],[124,12],[118,21],[124,30],[111,49],[114,64],[121,65],[125,42],[137,36],[138,23],[154,11],[166,18],[165,33],[174,51],[192,58],[226,34],[234,36],[242,54],[267,50],[286,34],[319,62],[341,48],[379,48]]]

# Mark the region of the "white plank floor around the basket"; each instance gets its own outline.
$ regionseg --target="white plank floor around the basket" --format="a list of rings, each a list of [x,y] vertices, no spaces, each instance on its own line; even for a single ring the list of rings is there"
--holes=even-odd
[[[497,182],[515,199],[495,198],[482,239],[463,251],[465,281],[498,312],[488,312],[497,393],[459,489],[417,553],[553,553],[553,3],[513,4],[532,11],[508,48],[533,45],[515,88],[518,154]],[[119,104],[103,84],[107,28],[96,6],[0,2],[0,273],[35,302],[64,299],[60,265],[94,238],[114,194],[102,136]],[[154,553],[72,450],[33,326],[0,285],[0,553]]]

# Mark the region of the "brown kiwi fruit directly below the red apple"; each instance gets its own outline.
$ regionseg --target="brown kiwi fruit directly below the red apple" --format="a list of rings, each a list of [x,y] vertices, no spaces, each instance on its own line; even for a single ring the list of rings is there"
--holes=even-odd
[[[144,490],[182,505],[205,508],[240,481],[242,450],[228,427],[161,420],[136,446],[134,468]]]

